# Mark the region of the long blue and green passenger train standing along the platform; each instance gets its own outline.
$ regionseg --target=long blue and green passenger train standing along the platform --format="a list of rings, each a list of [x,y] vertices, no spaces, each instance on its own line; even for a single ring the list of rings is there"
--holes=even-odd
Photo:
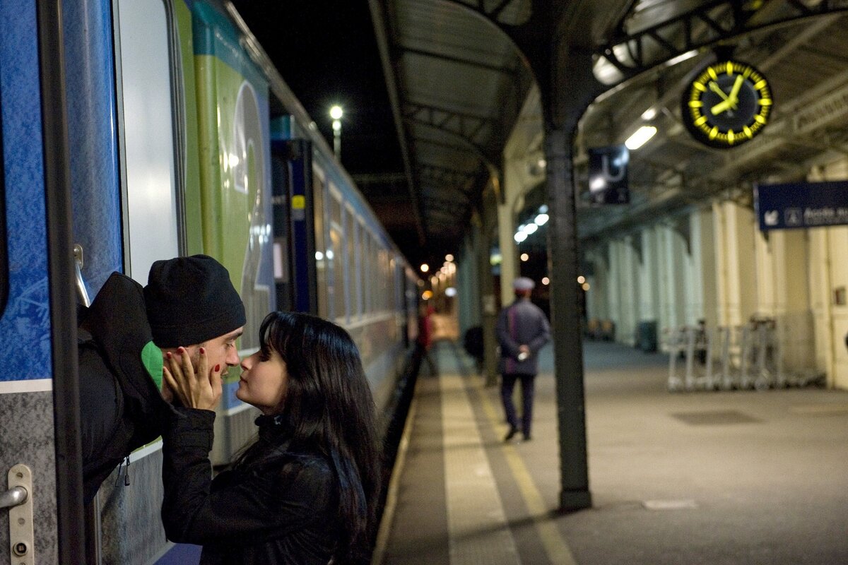
[[[0,554],[161,565],[192,554],[159,518],[161,440],[115,470],[79,523],[75,307],[113,271],[145,285],[155,260],[218,259],[245,304],[243,356],[273,309],[337,322],[387,433],[418,277],[232,3],[3,0],[0,110],[0,467],[10,486],[22,474],[9,469],[31,473],[33,516],[29,531],[26,518],[0,523]],[[255,434],[231,373],[215,465]]]

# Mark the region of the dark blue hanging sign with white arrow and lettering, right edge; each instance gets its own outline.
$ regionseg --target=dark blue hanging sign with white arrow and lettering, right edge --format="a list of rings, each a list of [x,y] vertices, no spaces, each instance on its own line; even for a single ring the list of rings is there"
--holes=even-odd
[[[760,230],[848,225],[848,181],[797,182],[754,187]]]

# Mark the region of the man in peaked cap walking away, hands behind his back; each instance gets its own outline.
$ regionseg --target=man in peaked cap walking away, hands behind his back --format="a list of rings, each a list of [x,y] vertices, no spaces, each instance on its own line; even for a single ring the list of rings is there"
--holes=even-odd
[[[510,430],[505,441],[518,433],[516,407],[512,391],[516,380],[522,382],[522,434],[524,440],[532,438],[533,385],[538,371],[538,350],[550,341],[550,324],[542,309],[530,302],[535,283],[519,277],[512,283],[516,301],[500,311],[497,334],[500,343],[500,397],[504,402],[506,421]]]

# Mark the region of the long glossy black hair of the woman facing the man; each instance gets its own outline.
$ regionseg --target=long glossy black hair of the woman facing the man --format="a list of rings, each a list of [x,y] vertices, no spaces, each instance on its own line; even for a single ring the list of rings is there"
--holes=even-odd
[[[380,450],[374,400],[360,353],[348,332],[304,313],[272,312],[259,328],[261,355],[277,352],[288,373],[278,415],[288,449],[317,447],[332,460],[338,478],[341,539],[337,564],[367,562],[380,490]],[[259,441],[238,465],[279,445]]]

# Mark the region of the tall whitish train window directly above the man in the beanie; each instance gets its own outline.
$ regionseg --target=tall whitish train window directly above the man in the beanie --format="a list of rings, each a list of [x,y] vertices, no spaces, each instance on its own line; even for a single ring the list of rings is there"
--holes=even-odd
[[[163,0],[114,2],[125,269],[142,284],[153,261],[184,251],[170,9]]]

